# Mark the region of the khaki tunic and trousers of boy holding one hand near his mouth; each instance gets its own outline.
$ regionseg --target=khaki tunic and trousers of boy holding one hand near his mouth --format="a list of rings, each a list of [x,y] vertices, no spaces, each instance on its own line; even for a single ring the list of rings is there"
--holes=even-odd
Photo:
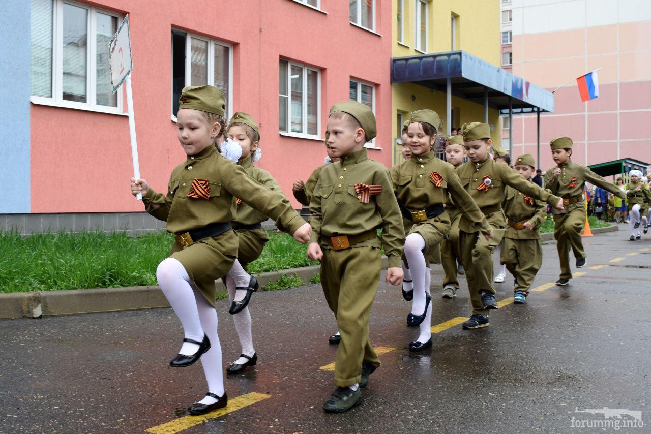
[[[558,165],[561,174],[554,178],[555,167],[545,173],[545,186],[549,191],[566,200],[574,200],[583,195],[585,182],[590,182],[602,189],[607,190],[617,197],[624,198],[624,192],[615,184],[609,183],[598,174],[592,172],[584,165],[574,163],[571,159]],[[573,181],[574,178],[574,181]],[[554,238],[556,248],[559,252],[561,262],[561,278],[572,278],[570,268],[570,248],[577,259],[585,258],[583,243],[581,242],[581,230],[587,219],[585,200],[581,198],[578,202],[565,205],[565,210],[551,211],[554,216]]]

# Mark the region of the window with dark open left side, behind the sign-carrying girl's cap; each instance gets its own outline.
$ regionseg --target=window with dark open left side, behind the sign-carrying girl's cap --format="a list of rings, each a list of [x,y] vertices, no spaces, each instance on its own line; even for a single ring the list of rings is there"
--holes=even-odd
[[[172,116],[186,86],[211,85],[226,98],[225,117],[232,113],[232,46],[204,36],[172,31]],[[189,53],[189,55],[186,55]]]

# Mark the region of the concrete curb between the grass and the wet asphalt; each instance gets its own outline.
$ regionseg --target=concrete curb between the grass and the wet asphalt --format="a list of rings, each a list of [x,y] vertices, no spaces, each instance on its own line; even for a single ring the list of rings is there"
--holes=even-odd
[[[616,232],[619,226],[611,224],[605,228],[592,229],[593,234]],[[554,234],[540,235],[540,241],[553,241]],[[388,266],[388,259],[382,256],[382,267]],[[319,273],[319,266],[270,271],[256,275],[260,286],[276,282],[281,276],[298,276],[309,282]],[[223,282],[215,280],[217,294],[225,294]],[[128,286],[126,288],[95,288],[89,290],[64,290],[40,292],[0,293],[0,319],[39,318],[87,314],[93,312],[117,312],[120,310],[152,309],[169,307],[159,286]]]

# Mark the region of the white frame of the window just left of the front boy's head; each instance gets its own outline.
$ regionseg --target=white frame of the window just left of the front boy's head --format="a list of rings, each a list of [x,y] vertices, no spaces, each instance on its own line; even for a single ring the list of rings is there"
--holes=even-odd
[[[319,140],[321,141],[321,98],[322,98],[322,92],[321,92],[321,70],[320,68],[316,68],[315,66],[309,66],[304,63],[299,63],[299,62],[294,62],[290,61],[289,59],[284,59],[281,57],[279,59],[280,62],[287,62],[287,95],[282,95],[285,98],[288,98],[287,100],[287,126],[289,131],[282,131],[280,129],[280,125],[278,126],[278,133],[280,135],[284,135],[287,137],[298,137],[300,139],[312,139],[312,140]],[[296,133],[292,131],[292,66],[296,66],[299,68],[303,68],[303,83],[301,83],[303,92],[301,92],[301,115],[302,115],[302,123],[301,123],[301,129],[303,131],[307,131],[307,71],[312,71],[316,72],[316,87],[318,90],[317,98],[316,98],[316,134],[308,134],[307,132],[303,133]],[[280,74],[280,70],[279,70]],[[278,82],[280,83],[280,77],[278,79]],[[281,98],[281,93],[280,89],[278,90],[278,104],[279,107],[278,109],[280,110],[280,98]]]

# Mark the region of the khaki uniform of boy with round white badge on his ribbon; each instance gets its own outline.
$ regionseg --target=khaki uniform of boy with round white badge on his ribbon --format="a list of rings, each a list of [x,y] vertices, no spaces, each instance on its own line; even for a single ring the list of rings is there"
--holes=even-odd
[[[478,236],[475,224],[465,215],[459,223],[459,251],[468,281],[473,314],[488,315],[488,310],[483,308],[481,292],[495,293],[493,289],[493,260],[492,253],[502,242],[504,237],[506,217],[502,210],[505,199],[506,186],[521,191],[529,197],[544,200],[555,206],[560,198],[549,194],[533,182],[523,178],[516,170],[503,163],[498,163],[487,158],[479,163],[467,161],[456,169],[462,185],[473,197],[477,206],[482,210],[488,223],[493,229],[491,239]],[[490,178],[488,188],[478,189],[480,185],[487,185],[484,181]]]

